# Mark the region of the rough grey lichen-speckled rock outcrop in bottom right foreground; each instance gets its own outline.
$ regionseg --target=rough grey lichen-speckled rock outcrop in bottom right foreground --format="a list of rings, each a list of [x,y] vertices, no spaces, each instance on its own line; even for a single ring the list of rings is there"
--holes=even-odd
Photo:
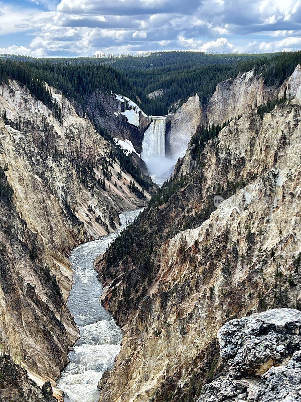
[[[227,376],[204,385],[198,402],[301,400],[301,313],[273,309],[231,320],[218,332]]]

